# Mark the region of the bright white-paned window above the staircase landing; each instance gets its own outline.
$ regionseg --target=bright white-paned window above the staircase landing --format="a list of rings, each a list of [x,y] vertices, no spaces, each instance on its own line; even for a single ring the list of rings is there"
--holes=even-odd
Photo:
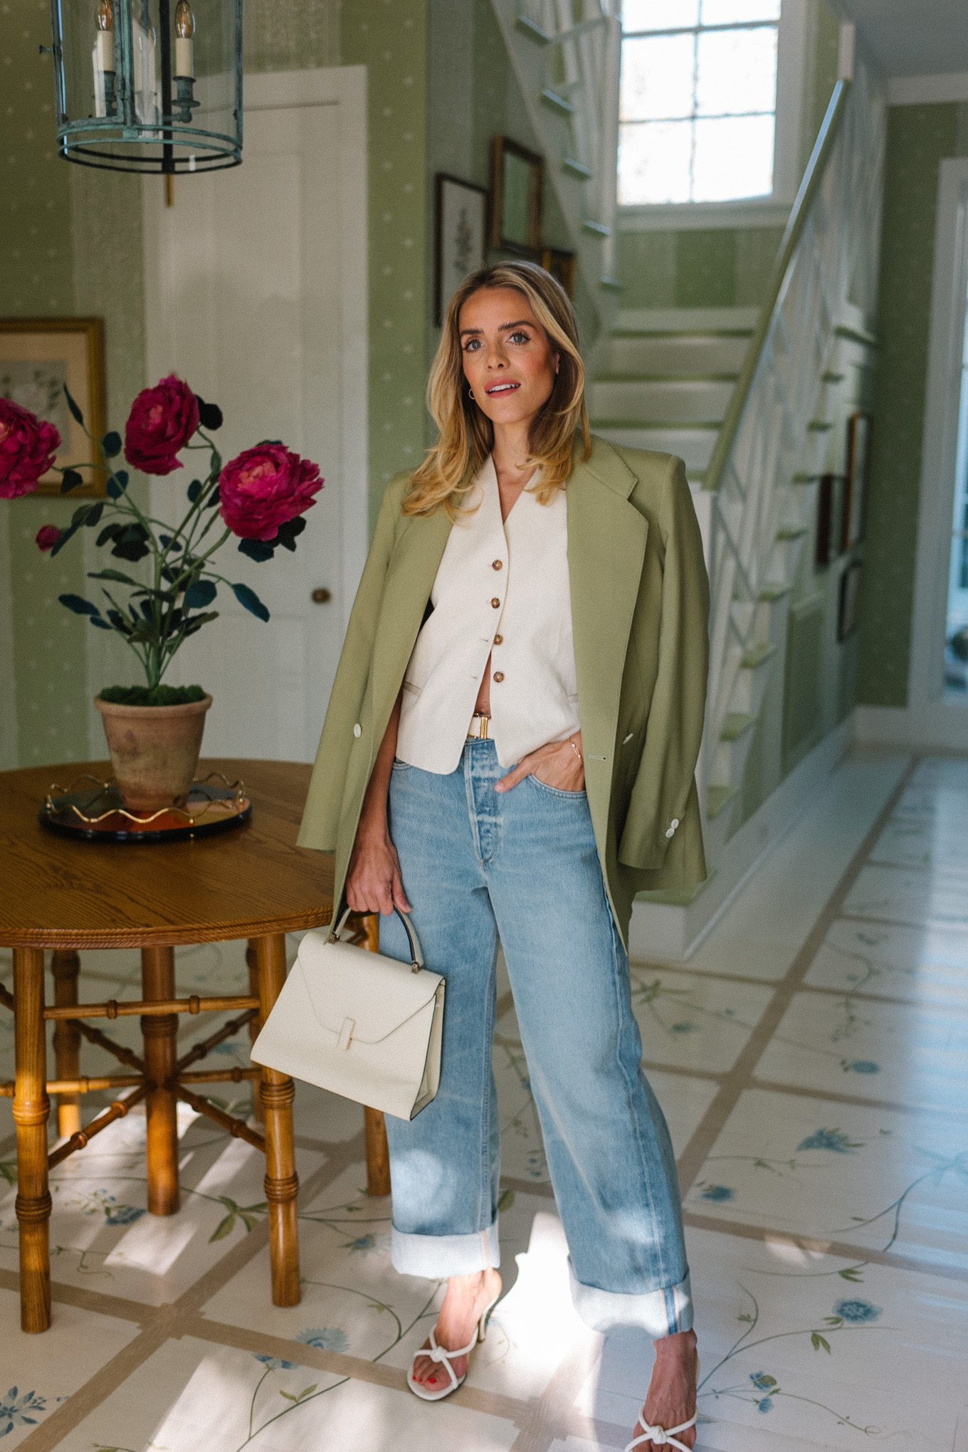
[[[624,0],[618,205],[772,199],[781,0]]]

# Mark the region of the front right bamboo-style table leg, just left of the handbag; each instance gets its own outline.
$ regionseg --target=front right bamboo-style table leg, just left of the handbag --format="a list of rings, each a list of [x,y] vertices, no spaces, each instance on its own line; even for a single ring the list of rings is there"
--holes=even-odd
[[[286,982],[286,935],[255,938],[258,1016],[263,1022]],[[277,1069],[263,1067],[263,1111],[266,1115],[266,1199],[268,1201],[268,1256],[273,1273],[273,1305],[299,1304],[299,1227],[296,1224],[296,1151],[293,1144],[292,1079]]]

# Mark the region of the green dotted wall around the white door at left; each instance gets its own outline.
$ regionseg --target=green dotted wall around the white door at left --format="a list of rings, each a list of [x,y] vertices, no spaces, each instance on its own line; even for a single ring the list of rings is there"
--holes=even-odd
[[[54,151],[46,0],[13,0],[3,44],[0,115],[0,315],[104,318],[107,417],[123,425],[145,376],[141,179],[61,161]],[[427,302],[427,0],[274,0],[248,6],[245,71],[364,64],[369,70],[370,502],[424,447]],[[161,184],[161,182],[158,182]],[[190,186],[190,179],[177,182]],[[128,652],[71,616],[83,594],[80,540],[55,560],[33,544],[70,499],[0,505],[10,546],[17,759],[89,756],[90,698],[104,677],[134,680]],[[87,542],[90,550],[90,542]],[[89,666],[89,646],[91,661]],[[90,672],[90,680],[89,680]],[[4,709],[9,709],[4,703]]]

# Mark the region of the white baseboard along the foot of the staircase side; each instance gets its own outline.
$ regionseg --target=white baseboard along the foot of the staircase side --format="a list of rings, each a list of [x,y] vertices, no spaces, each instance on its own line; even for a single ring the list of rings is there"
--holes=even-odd
[[[850,749],[853,739],[853,716],[848,716],[794,767],[772,796],[729,839],[723,860],[714,864],[713,877],[688,908],[673,908],[669,903],[633,903],[628,957],[672,963],[689,958],[766,854],[774,851],[814,802],[837,762]]]

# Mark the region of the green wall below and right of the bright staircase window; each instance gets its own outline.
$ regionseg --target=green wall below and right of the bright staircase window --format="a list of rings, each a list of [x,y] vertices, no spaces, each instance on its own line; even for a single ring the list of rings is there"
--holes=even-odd
[[[801,171],[837,78],[839,22],[826,0],[810,7]],[[769,282],[782,227],[710,227],[621,232],[623,308],[750,308]]]

